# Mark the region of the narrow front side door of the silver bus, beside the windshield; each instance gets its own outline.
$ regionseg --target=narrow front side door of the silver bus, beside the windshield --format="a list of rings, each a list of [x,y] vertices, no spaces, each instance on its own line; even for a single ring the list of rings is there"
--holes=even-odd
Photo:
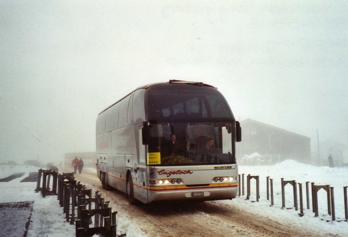
[[[139,162],[134,164],[134,176],[133,182],[135,182],[134,188],[134,197],[140,201],[147,203],[148,202],[148,192],[147,192],[147,166],[146,166],[146,145],[143,145],[143,139],[141,135],[141,129],[143,126],[138,128],[138,137],[139,137]],[[136,163],[136,162],[134,162]]]

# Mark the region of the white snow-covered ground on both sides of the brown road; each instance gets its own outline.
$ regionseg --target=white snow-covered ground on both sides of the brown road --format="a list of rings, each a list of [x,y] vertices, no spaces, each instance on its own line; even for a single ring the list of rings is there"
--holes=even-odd
[[[29,172],[37,171],[37,167],[33,166],[14,166],[12,169],[9,166],[0,165],[0,179],[8,177],[15,172],[26,172],[21,178],[14,179],[10,182],[0,182],[0,203],[9,202],[24,202],[34,201],[33,212],[31,216],[32,223],[29,225],[28,237],[61,237],[74,236],[75,228],[69,223],[64,222],[63,210],[58,205],[56,196],[48,196],[42,198],[40,193],[35,193],[36,183],[20,182],[23,178],[29,175]],[[298,163],[296,161],[287,160],[282,163],[270,166],[239,166],[239,173],[245,174],[245,196],[233,200],[216,201],[226,205],[239,206],[239,209],[262,216],[267,216],[273,220],[279,221],[284,225],[295,224],[304,230],[323,231],[323,233],[331,233],[333,235],[348,236],[348,222],[326,222],[319,218],[314,218],[314,213],[305,209],[305,215],[301,218],[298,213],[300,210],[295,209],[282,210],[282,195],[280,179],[295,180],[303,183],[303,206],[306,208],[306,189],[305,182],[315,182],[315,185],[330,185],[334,187],[335,197],[335,212],[336,218],[344,218],[344,201],[343,201],[343,186],[348,185],[348,169],[347,167],[317,167]],[[249,201],[246,197],[246,175],[260,176],[260,200],[256,200],[256,185],[255,180],[251,180],[251,197]],[[270,201],[266,199],[266,177],[274,179],[274,206],[270,207]],[[299,191],[298,191],[299,193]],[[293,189],[290,184],[285,186],[286,207],[293,206]],[[298,198],[299,200],[299,198]],[[323,189],[318,192],[319,200],[319,215],[327,214],[326,191]],[[310,198],[311,203],[311,198]],[[300,205],[299,205],[300,208]],[[311,205],[310,205],[311,208]],[[122,210],[113,210],[119,213]],[[204,213],[197,213],[201,215]],[[331,216],[325,216],[326,219],[331,219]],[[117,233],[126,232],[127,236],[145,236],[144,233],[136,226],[136,223],[131,223],[126,216],[118,215],[117,217]],[[1,232],[1,230],[0,230]],[[14,233],[13,236],[16,236]]]

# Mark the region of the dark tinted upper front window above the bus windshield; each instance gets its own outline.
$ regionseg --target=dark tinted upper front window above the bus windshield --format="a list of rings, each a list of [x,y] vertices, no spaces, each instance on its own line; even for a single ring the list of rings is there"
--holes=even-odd
[[[147,120],[233,118],[215,88],[184,83],[151,85],[145,95],[145,112]]]

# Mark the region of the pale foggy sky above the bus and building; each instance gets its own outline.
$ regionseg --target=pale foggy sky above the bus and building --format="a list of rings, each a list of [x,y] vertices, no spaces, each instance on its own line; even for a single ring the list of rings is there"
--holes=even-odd
[[[169,79],[237,120],[348,143],[348,1],[2,1],[0,159],[95,151],[99,112]],[[326,154],[323,154],[326,155]]]

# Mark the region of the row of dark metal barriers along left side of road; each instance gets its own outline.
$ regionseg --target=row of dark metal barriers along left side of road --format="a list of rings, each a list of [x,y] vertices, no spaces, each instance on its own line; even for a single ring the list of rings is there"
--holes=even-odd
[[[42,188],[40,187],[42,175]],[[50,177],[53,177],[53,187],[50,191]],[[58,192],[57,192],[58,188]],[[92,198],[92,189],[85,189],[85,186],[74,179],[73,173],[59,174],[56,171],[42,170],[38,172],[38,181],[35,191],[45,197],[46,195],[57,195],[59,205],[63,207],[66,222],[76,223],[77,237],[92,237],[99,234],[100,237],[125,237],[122,233],[116,235],[116,214],[111,212],[109,202],[105,202],[99,191],[95,191],[95,198]],[[88,198],[87,198],[88,197]],[[95,209],[92,209],[94,202]],[[88,209],[86,209],[88,205]],[[71,212],[70,212],[71,207]],[[75,210],[77,207],[77,217]],[[94,216],[94,228],[89,228]]]

